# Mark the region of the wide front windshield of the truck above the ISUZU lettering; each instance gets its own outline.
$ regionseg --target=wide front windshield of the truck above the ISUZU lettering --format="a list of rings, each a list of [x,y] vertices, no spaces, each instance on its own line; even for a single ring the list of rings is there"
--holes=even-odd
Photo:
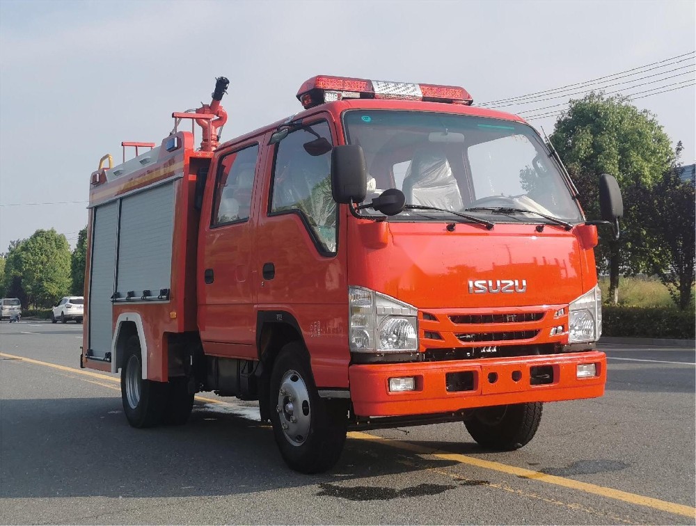
[[[583,221],[548,149],[528,125],[451,113],[388,110],[347,111],[343,122],[347,142],[361,145],[365,152],[365,202],[388,188],[397,188],[404,192],[407,205],[467,211],[497,223],[545,221],[518,212],[501,216],[500,209],[530,210],[569,223]],[[372,209],[361,212],[381,215]],[[406,210],[393,219],[443,221],[446,215]]]

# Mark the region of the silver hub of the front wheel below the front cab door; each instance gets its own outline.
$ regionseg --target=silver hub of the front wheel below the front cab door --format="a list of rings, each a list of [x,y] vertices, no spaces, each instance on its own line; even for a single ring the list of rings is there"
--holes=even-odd
[[[290,370],[280,378],[276,412],[287,441],[302,445],[307,440],[312,414],[307,385],[298,372]]]

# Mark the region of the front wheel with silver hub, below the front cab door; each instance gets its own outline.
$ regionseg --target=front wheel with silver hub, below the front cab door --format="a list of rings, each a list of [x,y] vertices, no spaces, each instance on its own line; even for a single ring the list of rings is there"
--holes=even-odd
[[[271,424],[285,463],[302,473],[333,467],[346,440],[348,404],[319,397],[301,344],[283,346],[269,391]]]

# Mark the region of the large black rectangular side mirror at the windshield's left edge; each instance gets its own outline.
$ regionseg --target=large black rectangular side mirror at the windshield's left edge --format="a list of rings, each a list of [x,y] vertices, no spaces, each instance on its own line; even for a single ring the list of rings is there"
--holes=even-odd
[[[367,166],[363,148],[334,146],[331,152],[331,195],[335,202],[363,202],[367,195]]]

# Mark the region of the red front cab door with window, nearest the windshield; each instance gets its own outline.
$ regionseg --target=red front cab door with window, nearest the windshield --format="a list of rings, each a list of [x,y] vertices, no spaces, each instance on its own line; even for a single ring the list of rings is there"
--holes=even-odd
[[[346,229],[331,195],[336,141],[331,115],[319,113],[267,148],[255,240],[260,321],[301,332],[323,386],[348,381]]]

